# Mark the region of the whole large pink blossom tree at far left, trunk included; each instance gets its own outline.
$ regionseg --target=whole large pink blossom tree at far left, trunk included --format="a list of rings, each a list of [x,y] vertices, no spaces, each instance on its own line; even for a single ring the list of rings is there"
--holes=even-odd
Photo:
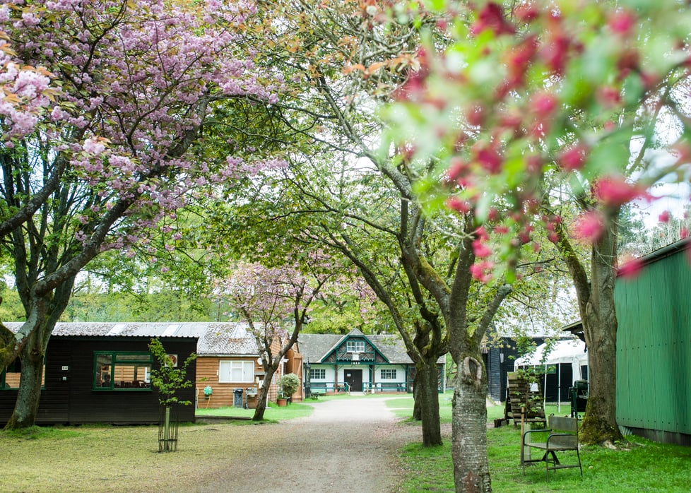
[[[0,330],[1,366],[22,361],[7,427],[35,422],[49,336],[79,271],[103,251],[146,248],[153,225],[173,237],[189,198],[261,168],[232,135],[213,153],[203,139],[224,123],[217,108],[276,101],[280,81],[256,69],[247,42],[254,13],[215,0],[0,6],[16,50],[5,54],[23,67],[6,63],[0,83],[28,105],[28,117],[0,105],[2,246],[26,312],[18,333]]]

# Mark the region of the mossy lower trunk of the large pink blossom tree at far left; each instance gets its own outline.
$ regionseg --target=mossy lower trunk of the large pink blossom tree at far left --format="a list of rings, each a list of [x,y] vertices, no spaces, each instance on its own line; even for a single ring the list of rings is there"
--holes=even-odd
[[[44,337],[42,329],[36,328],[19,352],[22,364],[21,383],[12,416],[5,429],[28,428],[36,422],[48,338],[49,333]]]

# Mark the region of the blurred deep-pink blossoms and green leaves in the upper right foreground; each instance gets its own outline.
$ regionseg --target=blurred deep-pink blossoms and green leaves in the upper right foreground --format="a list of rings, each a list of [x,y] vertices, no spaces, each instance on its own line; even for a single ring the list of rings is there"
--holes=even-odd
[[[400,111],[391,113],[391,121],[408,117],[396,141],[403,159],[423,163],[422,170],[443,155],[446,206],[463,220],[488,230],[492,225],[500,237],[492,247],[482,237],[473,242],[477,279],[488,279],[492,250],[505,256],[502,266],[515,265],[519,254],[500,252],[533,242],[533,225],[542,224],[550,242],[559,242],[559,223],[539,219],[545,179],[562,180],[582,198],[583,213],[569,227],[587,242],[601,239],[623,204],[652,200],[647,188],[654,172],[628,177],[631,150],[622,143],[630,141],[632,128],[646,125],[644,112],[654,116],[670,105],[669,112],[677,113],[675,102],[656,90],[661,81],[690,77],[691,53],[679,27],[687,13],[678,32],[661,33],[655,20],[630,6],[577,4],[587,5],[591,15],[561,11],[547,0],[516,2],[510,12],[508,4],[492,0],[468,4],[462,14],[449,6],[437,28],[454,40],[451,49],[436,52],[431,43],[420,48],[419,69],[410,70],[395,94]],[[678,12],[673,0],[662,4],[654,16]],[[663,61],[651,59],[648,40],[658,37]],[[439,145],[416,141],[430,135]],[[680,167],[690,166],[691,145],[682,138],[675,150],[678,161],[663,173],[687,176]]]

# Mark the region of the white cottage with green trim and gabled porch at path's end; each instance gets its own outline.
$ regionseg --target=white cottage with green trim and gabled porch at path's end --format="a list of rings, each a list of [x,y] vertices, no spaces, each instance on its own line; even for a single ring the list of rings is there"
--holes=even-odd
[[[399,335],[300,334],[305,395],[412,392],[415,364]],[[437,361],[439,392],[444,392],[444,357]]]

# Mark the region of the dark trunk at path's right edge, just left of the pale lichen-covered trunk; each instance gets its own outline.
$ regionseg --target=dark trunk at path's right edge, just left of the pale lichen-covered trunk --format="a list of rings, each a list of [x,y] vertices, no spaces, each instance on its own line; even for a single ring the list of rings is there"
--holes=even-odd
[[[415,403],[420,402],[420,418],[423,421],[423,446],[442,444],[442,427],[439,423],[439,390],[437,359],[425,358],[418,363],[414,391]]]

